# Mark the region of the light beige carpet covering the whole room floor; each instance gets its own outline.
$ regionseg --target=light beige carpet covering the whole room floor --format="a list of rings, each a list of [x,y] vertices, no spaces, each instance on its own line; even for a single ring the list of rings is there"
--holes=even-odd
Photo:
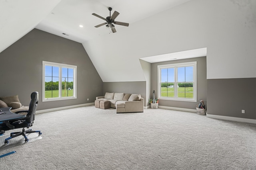
[[[256,124],[196,113],[78,107],[36,115],[42,139],[1,150],[1,169],[256,169]],[[23,139],[22,139],[23,141]]]

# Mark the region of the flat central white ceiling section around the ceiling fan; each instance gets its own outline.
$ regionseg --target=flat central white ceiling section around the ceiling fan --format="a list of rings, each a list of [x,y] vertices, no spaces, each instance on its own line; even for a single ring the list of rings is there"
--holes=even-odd
[[[120,13],[115,21],[127,22],[132,25],[134,22],[188,1],[190,0],[61,0],[36,28],[84,43],[109,34],[105,26],[94,27],[105,21],[93,16],[92,13],[106,18],[109,16],[108,7],[111,7],[111,14],[114,11]],[[81,28],[79,25],[83,25],[83,27]],[[117,31],[115,34],[126,28],[122,25],[115,26]]]

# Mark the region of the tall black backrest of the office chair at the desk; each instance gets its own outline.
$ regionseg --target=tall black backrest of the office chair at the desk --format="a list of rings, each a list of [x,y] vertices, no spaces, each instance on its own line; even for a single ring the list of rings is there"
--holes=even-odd
[[[38,92],[32,92],[28,114],[26,115],[26,123],[28,123],[28,127],[32,126],[33,121],[35,120],[37,104],[38,104]]]

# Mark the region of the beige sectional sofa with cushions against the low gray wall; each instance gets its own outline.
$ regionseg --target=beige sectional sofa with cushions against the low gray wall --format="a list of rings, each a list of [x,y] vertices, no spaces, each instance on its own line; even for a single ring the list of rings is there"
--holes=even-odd
[[[144,98],[142,98],[140,94],[106,92],[105,96],[96,97],[95,107],[99,106],[100,101],[109,101],[110,107],[116,108],[116,113],[144,111]],[[101,103],[105,103],[105,102],[101,102]],[[108,107],[108,105],[105,105],[105,106]]]

